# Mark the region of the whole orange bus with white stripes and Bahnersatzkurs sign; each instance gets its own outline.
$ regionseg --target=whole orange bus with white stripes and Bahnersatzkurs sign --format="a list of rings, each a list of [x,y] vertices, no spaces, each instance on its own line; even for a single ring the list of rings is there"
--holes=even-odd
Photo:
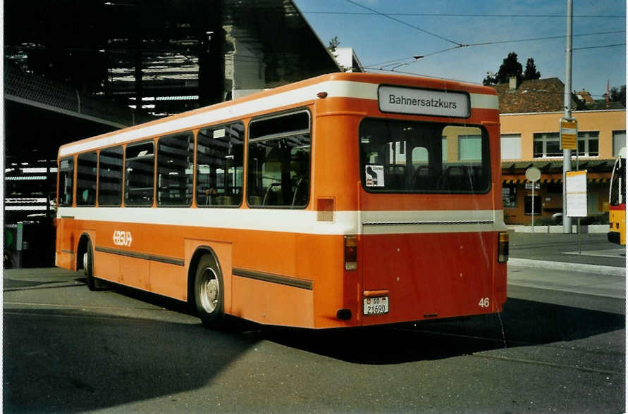
[[[502,311],[495,89],[334,73],[60,147],[56,265],[267,325]]]

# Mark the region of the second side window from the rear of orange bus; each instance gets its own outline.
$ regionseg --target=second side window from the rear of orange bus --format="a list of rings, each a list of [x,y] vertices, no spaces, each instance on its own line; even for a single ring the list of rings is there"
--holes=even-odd
[[[196,203],[240,206],[244,175],[244,124],[203,128],[197,137]]]

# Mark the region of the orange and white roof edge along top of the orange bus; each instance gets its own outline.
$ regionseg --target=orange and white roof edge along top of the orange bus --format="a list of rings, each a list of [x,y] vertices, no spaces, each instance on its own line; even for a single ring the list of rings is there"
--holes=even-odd
[[[304,105],[314,101],[316,94],[319,92],[327,92],[329,97],[377,99],[377,88],[380,84],[467,92],[471,96],[473,108],[498,109],[498,98],[495,89],[479,84],[408,75],[331,73],[300,82],[285,84],[281,87],[257,92],[233,101],[204,106],[192,111],[152,120],[148,123],[64,144],[59,147],[59,157],[99,149],[103,146],[123,144],[142,138],[195,129],[211,123],[247,118],[299,103]]]

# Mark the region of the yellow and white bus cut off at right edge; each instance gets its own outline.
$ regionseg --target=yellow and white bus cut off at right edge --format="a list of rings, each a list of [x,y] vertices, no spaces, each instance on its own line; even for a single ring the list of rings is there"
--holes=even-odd
[[[620,150],[610,176],[608,191],[608,241],[626,245],[626,148]]]

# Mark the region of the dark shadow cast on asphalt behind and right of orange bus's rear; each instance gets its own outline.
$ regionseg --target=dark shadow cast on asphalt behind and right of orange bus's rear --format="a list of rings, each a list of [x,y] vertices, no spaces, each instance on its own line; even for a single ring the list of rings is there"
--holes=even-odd
[[[350,363],[397,364],[576,341],[625,328],[624,315],[508,299],[500,315],[357,330],[263,328],[264,339]],[[618,344],[622,345],[622,344]]]

